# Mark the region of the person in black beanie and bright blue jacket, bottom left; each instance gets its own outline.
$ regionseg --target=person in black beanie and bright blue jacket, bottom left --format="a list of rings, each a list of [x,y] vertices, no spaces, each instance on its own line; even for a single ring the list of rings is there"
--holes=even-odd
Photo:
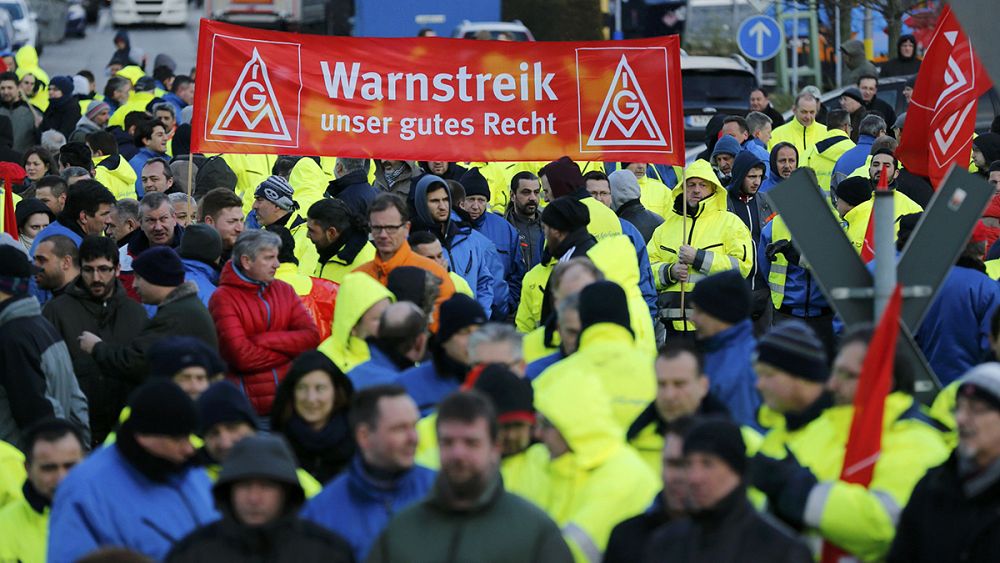
[[[129,401],[114,444],[76,466],[56,490],[48,560],[69,563],[100,547],[162,560],[173,544],[218,519],[211,482],[188,463],[198,429],[194,401],[154,379]]]

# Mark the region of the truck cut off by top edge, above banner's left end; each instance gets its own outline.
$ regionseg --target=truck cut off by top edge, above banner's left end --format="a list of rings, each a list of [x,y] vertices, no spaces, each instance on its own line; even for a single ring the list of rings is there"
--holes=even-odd
[[[265,29],[328,33],[328,0],[205,0],[205,17]]]

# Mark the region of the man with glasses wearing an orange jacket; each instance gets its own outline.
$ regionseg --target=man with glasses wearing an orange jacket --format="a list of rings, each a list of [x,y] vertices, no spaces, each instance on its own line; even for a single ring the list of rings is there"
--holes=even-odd
[[[389,282],[389,274],[400,266],[416,266],[434,274],[441,280],[441,291],[434,303],[431,328],[437,330],[437,311],[441,303],[455,294],[455,285],[448,272],[437,262],[413,252],[406,238],[410,235],[410,217],[403,198],[395,194],[379,194],[368,209],[368,220],[375,245],[375,259],[361,265],[364,272],[382,285]]]

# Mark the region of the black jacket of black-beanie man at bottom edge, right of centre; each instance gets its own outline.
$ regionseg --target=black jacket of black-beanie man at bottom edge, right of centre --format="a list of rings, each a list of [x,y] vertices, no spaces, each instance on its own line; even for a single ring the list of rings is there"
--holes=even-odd
[[[646,544],[649,563],[811,563],[798,538],[765,519],[736,487],[712,509],[661,528]]]

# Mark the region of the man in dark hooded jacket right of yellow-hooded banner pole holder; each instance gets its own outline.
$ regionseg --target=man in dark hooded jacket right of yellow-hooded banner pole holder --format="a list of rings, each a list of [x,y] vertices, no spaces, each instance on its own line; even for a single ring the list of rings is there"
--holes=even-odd
[[[757,249],[760,246],[761,230],[767,225],[774,214],[767,196],[760,193],[760,185],[764,180],[766,168],[764,162],[750,151],[743,151],[736,157],[733,164],[732,181],[726,189],[727,209],[735,213],[750,230],[754,251],[750,266],[750,291],[753,296],[753,307],[750,318],[754,323],[754,334],[762,335],[771,326],[772,307],[771,290],[767,285],[758,263]]]

